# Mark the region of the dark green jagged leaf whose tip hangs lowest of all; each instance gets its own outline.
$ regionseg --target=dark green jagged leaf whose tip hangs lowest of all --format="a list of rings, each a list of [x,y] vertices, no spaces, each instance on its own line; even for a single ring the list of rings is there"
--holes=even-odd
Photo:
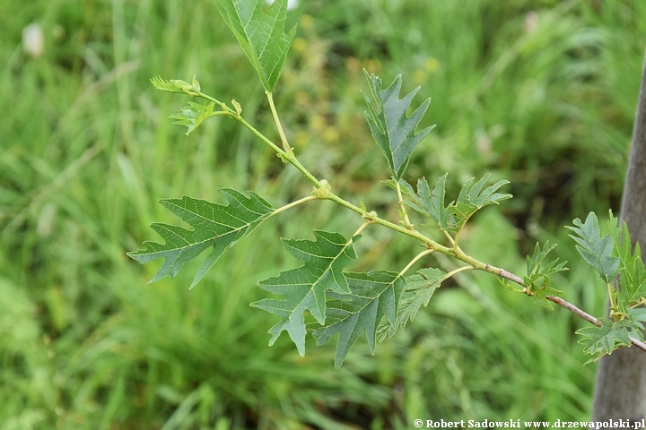
[[[339,333],[336,368],[343,364],[362,331],[366,332],[371,353],[374,353],[378,324],[384,315],[389,323],[396,323],[397,304],[405,285],[399,274],[391,271],[349,272],[345,273],[345,278],[351,293],[327,293],[325,326],[313,332],[317,345]]]

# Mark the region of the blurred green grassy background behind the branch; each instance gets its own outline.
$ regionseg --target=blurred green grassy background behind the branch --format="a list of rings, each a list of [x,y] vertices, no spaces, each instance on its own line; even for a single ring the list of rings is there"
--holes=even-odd
[[[39,23],[41,56],[22,47]],[[536,240],[561,243],[565,297],[605,299],[563,230],[618,210],[646,42],[641,0],[301,0],[275,91],[301,162],[396,219],[363,117],[362,68],[432,97],[410,181],[450,172],[511,179],[515,198],[474,220],[465,248],[522,274]],[[167,116],[186,101],[148,79],[189,80],[240,101],[271,137],[255,72],[209,0],[0,3],[0,429],[410,428],[423,419],[588,419],[595,366],[581,322],[485,274],[445,286],[406,331],[364,340],[334,370],[334,342],[299,357],[267,347],[272,315],[256,282],[296,262],[278,237],[354,232],[358,219],[310,203],[271,219],[197,288],[187,267],[127,258],[177,222],[156,201],[223,202],[221,186],[274,206],[310,193],[293,168],[233,122],[189,137]],[[388,209],[390,208],[390,209]],[[398,271],[416,245],[379,228],[355,270]],[[426,264],[435,263],[426,261]],[[440,260],[442,267],[450,262]],[[458,288],[459,287],[459,288]]]

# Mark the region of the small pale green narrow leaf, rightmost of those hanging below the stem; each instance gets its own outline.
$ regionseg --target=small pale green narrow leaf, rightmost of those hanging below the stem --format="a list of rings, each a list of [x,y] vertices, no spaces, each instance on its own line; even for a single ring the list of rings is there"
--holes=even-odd
[[[402,292],[397,306],[397,320],[383,323],[379,329],[379,340],[392,337],[399,328],[406,328],[406,323],[415,319],[422,305],[425,307],[435,290],[440,288],[446,272],[435,268],[421,269],[415,275],[406,276],[406,287]]]

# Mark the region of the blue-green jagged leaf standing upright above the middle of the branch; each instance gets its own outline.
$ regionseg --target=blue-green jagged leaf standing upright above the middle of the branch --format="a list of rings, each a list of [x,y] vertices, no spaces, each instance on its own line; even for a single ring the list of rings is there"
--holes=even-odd
[[[426,127],[420,133],[415,134],[415,128],[426,112],[431,99],[426,99],[411,116],[406,116],[406,109],[410,106],[411,100],[420,87],[400,100],[401,75],[397,75],[395,81],[387,89],[382,90],[379,77],[374,74],[369,75],[365,70],[363,73],[365,73],[371,87],[372,98],[365,93],[363,93],[363,98],[368,105],[366,118],[372,137],[386,156],[393,176],[399,180],[404,175],[411,153],[434,127],[434,125]]]

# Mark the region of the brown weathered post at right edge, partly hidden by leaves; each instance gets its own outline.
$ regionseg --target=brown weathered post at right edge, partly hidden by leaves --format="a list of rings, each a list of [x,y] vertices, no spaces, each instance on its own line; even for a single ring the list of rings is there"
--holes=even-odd
[[[646,62],[637,101],[633,144],[628,159],[620,219],[646,256]],[[638,348],[620,348],[599,362],[592,419],[646,418],[646,354]]]

